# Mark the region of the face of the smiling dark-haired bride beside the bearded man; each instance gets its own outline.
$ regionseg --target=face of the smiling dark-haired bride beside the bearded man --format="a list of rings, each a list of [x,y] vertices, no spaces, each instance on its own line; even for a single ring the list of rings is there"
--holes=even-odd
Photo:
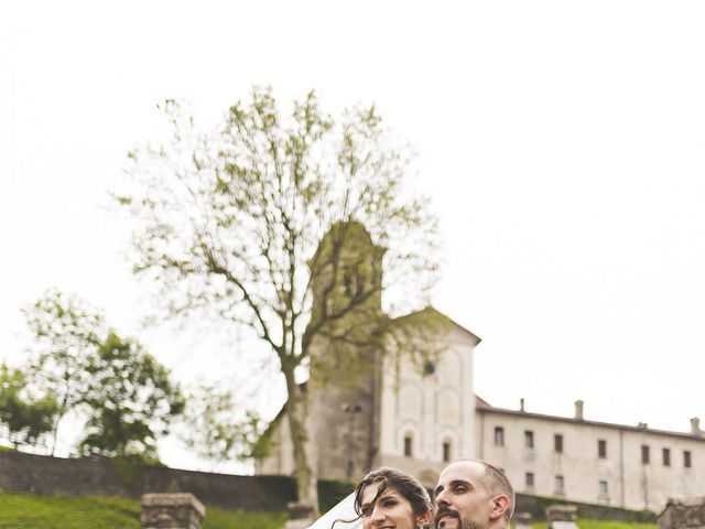
[[[409,500],[392,487],[375,499],[379,485],[372,483],[362,490],[362,529],[416,529],[422,519],[414,515]]]

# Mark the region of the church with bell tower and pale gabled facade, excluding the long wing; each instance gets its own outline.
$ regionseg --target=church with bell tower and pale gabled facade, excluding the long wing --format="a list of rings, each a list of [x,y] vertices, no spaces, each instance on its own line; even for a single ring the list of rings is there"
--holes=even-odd
[[[381,285],[384,249],[375,246],[359,224],[334,226],[323,238],[316,256],[329,252],[329,248],[339,242],[341,230],[346,230],[347,240],[345,247],[338,248],[341,256],[338,269],[349,269],[351,277],[343,281],[343,289],[330,288],[329,274],[321,273],[314,279],[312,321],[316,320],[316,311],[323,310],[317,307],[330,303],[335,310],[335,303],[345,303],[347,294],[343,290],[348,284],[362,285],[362,290],[370,284]],[[372,290],[381,292],[381,288]],[[328,299],[322,304],[322,293],[326,292]],[[476,452],[473,350],[479,338],[432,307],[389,319],[382,314],[379,295],[369,298],[364,306],[346,317],[346,323],[354,322],[352,327],[361,330],[368,327],[369,321],[380,320],[389,323],[388,328],[406,328],[412,334],[405,341],[406,346],[414,349],[414,343],[432,343],[437,361],[421,359],[429,355],[415,355],[414,360],[405,354],[408,350],[382,355],[382,347],[388,352],[393,348],[389,342],[356,353],[346,352],[343,360],[338,354],[338,358],[332,360],[329,357],[335,355],[328,354],[326,343],[315,343],[306,382],[306,431],[313,440],[310,464],[318,476],[338,479],[357,478],[370,467],[392,465],[435,486],[444,461]],[[432,336],[429,337],[427,332],[426,336],[413,336],[420,320],[426,324],[433,322]],[[356,341],[373,344],[359,332]],[[338,366],[336,361],[344,365]],[[365,369],[352,373],[359,366]],[[256,463],[260,474],[293,471],[285,418],[286,410],[282,409],[270,424],[265,435],[271,446],[269,456]]]

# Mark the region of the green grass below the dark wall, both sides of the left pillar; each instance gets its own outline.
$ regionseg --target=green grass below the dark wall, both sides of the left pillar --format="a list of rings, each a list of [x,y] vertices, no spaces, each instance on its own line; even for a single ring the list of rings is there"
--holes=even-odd
[[[281,529],[283,512],[206,509],[204,529]],[[140,529],[140,503],[123,498],[0,494],[2,529]]]

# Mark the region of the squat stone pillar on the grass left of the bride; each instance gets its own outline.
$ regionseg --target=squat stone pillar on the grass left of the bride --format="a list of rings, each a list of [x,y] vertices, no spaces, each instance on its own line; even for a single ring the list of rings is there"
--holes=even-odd
[[[206,508],[193,494],[142,495],[143,529],[200,529]]]

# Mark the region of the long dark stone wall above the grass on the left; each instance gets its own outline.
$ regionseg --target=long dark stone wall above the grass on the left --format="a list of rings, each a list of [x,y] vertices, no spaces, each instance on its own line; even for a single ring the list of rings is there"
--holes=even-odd
[[[104,457],[62,458],[0,452],[0,493],[118,496],[191,493],[206,506],[283,511],[296,499],[293,479],[234,476],[166,467],[124,465]]]

